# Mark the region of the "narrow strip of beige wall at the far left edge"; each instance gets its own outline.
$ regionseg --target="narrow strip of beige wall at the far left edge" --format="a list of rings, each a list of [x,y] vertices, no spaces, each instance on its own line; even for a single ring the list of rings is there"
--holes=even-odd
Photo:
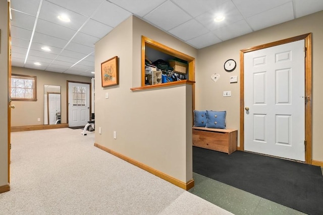
[[[0,1],[0,187],[8,184],[8,24],[7,1]]]

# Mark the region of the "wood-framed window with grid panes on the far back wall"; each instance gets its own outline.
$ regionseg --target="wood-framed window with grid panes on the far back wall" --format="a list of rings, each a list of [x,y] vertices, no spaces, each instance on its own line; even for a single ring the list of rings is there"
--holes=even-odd
[[[13,101],[36,101],[36,77],[12,74],[11,99]]]

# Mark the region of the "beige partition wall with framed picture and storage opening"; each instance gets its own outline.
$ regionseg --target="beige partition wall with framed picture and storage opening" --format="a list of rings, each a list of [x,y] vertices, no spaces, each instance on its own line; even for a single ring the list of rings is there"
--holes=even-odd
[[[196,49],[136,17],[97,42],[95,142],[187,182],[192,179],[192,86],[132,92],[130,88],[141,85],[141,35],[196,57]],[[100,63],[116,55],[120,84],[102,88]],[[104,99],[105,93],[109,99]],[[117,131],[117,139],[113,131]]]

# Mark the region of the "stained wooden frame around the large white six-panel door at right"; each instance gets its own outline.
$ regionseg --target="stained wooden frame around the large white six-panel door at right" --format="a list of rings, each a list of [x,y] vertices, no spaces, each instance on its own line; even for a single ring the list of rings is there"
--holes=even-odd
[[[244,151],[244,53],[305,40],[305,163],[312,163],[312,33],[240,50],[240,151]]]

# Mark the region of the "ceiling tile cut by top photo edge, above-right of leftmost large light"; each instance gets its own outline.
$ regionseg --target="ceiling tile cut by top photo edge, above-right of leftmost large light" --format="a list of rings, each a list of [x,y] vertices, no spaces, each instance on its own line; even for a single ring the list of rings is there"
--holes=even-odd
[[[75,1],[62,1],[62,0],[47,0],[53,4],[61,6],[62,8],[66,8],[70,11],[74,11],[78,14],[89,17],[95,10],[106,0],[77,0],[77,4]]]

